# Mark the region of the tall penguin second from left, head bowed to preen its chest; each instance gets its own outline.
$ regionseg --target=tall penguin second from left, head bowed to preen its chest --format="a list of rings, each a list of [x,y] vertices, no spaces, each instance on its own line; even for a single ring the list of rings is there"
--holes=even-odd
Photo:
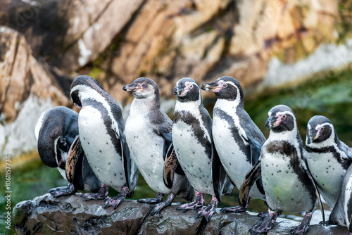
[[[89,76],[73,80],[70,96],[75,106],[82,108],[78,115],[78,128],[89,164],[103,184],[120,192],[118,196],[108,198],[104,208],[111,205],[117,208],[126,196],[132,197],[138,179],[137,166],[130,158],[125,139],[121,108]]]

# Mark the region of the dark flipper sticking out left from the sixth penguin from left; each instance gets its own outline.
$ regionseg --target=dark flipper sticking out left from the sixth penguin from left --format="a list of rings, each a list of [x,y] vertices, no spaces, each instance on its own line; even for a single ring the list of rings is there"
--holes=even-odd
[[[246,207],[246,204],[249,199],[249,191],[251,187],[256,182],[256,180],[261,175],[261,163],[260,159],[257,161],[256,165],[254,165],[251,170],[244,177],[244,182],[241,185],[241,189],[239,190],[239,205]]]

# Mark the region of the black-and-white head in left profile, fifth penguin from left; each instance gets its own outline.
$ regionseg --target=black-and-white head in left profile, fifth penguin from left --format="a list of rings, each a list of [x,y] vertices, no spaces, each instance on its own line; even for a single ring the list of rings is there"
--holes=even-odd
[[[244,94],[241,84],[230,76],[219,77],[215,82],[204,83],[201,89],[213,91],[215,95],[218,96],[218,99],[244,103]]]

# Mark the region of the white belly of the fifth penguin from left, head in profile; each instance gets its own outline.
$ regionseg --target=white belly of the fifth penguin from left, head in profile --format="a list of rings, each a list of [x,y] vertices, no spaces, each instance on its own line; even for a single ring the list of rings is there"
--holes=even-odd
[[[251,170],[252,165],[246,160],[245,153],[241,151],[234,140],[228,122],[216,116],[213,120],[213,140],[222,166],[232,182],[236,184],[237,189],[240,189],[244,177]],[[256,184],[251,188],[249,196],[251,198],[264,198]]]

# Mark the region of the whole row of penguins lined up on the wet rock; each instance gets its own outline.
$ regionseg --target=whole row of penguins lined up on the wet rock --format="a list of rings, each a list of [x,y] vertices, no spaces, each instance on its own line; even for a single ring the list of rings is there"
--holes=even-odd
[[[329,224],[352,232],[352,151],[329,119],[319,115],[309,120],[303,146],[294,113],[284,105],[269,110],[265,127],[270,134],[265,139],[244,110],[244,92],[233,77],[201,87],[188,77],[179,80],[173,90],[173,121],[161,110],[153,80],[140,77],[122,89],[134,96],[126,121],[117,101],[85,75],[70,87],[80,113],[58,106],[40,116],[34,130],[40,158],[58,167],[69,183],[51,189],[51,196],[91,191],[82,194],[84,201],[105,199],[104,208],[117,208],[125,197],[132,198],[139,170],[156,191],[155,198],[137,200],[154,204],[150,215],[182,196],[189,203],[176,210],[197,210],[196,217],[209,221],[221,196],[231,195],[236,186],[239,205],[220,212],[244,212],[250,198],[263,199],[269,208],[260,213],[251,234],[270,230],[281,212],[306,212],[291,230],[305,234],[321,193],[334,208]],[[218,98],[213,120],[203,107],[201,89]],[[108,197],[109,186],[118,196]],[[208,206],[203,206],[204,193],[212,196]]]

